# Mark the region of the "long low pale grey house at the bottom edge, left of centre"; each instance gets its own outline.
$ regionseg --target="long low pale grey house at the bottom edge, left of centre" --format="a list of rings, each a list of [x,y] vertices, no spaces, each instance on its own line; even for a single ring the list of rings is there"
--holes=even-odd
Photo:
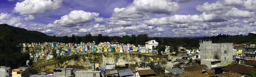
[[[74,72],[76,77],[101,77],[100,71],[87,71],[84,69],[77,69]]]

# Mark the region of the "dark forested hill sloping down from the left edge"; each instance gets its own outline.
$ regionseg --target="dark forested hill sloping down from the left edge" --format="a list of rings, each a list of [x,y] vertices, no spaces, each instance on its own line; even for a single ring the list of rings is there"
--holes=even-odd
[[[7,24],[0,24],[0,39],[10,43],[40,42],[47,38],[50,38],[50,36],[38,31],[29,31]]]

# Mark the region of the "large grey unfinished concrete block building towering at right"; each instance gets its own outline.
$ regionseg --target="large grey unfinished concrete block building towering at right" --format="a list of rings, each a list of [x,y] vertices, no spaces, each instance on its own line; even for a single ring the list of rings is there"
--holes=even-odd
[[[212,41],[200,40],[201,64],[213,69],[227,66],[233,62],[232,43],[212,43]]]

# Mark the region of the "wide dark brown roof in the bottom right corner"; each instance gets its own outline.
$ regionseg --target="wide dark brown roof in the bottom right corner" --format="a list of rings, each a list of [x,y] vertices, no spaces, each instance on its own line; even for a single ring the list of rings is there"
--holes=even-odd
[[[223,71],[223,73],[228,72],[228,71],[233,71],[239,74],[247,74],[249,75],[249,69],[251,69],[252,71],[256,71],[256,68],[253,67],[248,67],[248,66],[244,66],[244,65],[227,65],[225,66],[223,69],[221,69]]]

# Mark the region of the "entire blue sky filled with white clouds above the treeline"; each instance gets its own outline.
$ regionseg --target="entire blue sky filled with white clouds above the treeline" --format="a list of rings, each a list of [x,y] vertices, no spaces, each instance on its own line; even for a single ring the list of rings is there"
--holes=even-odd
[[[0,0],[0,24],[50,36],[255,33],[255,0]]]

